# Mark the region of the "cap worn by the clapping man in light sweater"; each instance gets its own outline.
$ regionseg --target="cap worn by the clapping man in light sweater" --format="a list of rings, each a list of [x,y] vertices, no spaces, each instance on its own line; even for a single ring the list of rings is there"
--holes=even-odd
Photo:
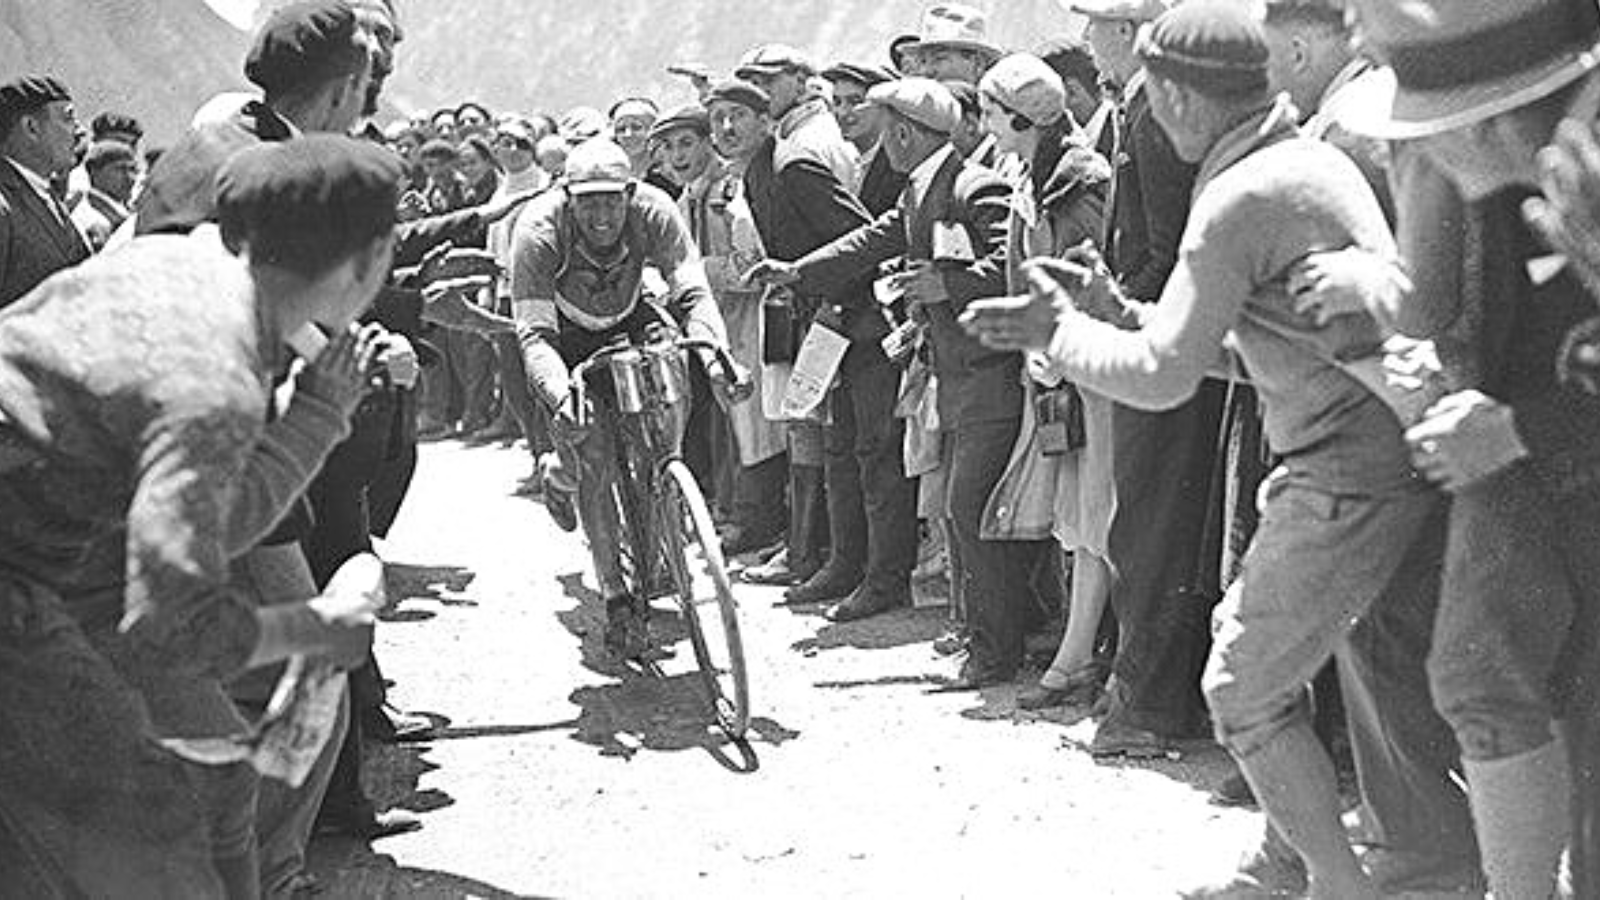
[[[1160,75],[1202,93],[1267,90],[1267,38],[1261,21],[1237,0],[1189,0],[1139,32],[1139,59]]]

